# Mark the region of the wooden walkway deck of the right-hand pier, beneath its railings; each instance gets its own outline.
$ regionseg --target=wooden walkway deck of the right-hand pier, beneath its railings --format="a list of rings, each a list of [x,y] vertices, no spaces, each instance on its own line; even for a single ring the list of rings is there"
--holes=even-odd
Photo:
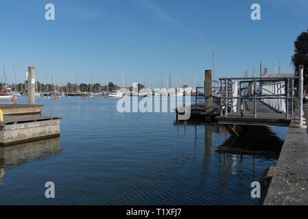
[[[257,118],[254,118],[254,102],[244,101],[244,116],[240,112],[228,113],[225,116],[216,116],[218,124],[222,125],[275,125],[289,126],[294,116],[289,115],[286,118],[285,114],[277,113],[265,104],[257,101]]]

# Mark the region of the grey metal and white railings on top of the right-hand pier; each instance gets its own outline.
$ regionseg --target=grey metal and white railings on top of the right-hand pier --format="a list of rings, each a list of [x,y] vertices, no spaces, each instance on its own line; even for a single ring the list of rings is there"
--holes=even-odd
[[[298,79],[298,96],[294,96],[294,80]],[[239,88],[237,87],[239,86]],[[257,101],[276,112],[294,115],[294,100],[303,107],[303,68],[298,77],[230,77],[220,78],[220,116],[242,110],[244,99],[254,102],[254,118],[257,118]],[[224,103],[223,103],[224,100]],[[237,100],[240,104],[237,104]],[[223,105],[224,104],[224,105]],[[240,107],[241,109],[238,109]],[[223,110],[224,108],[224,110]],[[303,109],[299,110],[299,125],[303,125]]]

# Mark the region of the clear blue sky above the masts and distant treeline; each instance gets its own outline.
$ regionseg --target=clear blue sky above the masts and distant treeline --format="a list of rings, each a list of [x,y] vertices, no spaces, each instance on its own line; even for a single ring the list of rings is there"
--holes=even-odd
[[[54,3],[56,20],[45,20]],[[261,21],[250,5],[261,5]],[[292,72],[294,40],[308,29],[308,0],[10,0],[0,1],[0,66],[12,81],[27,66],[39,81],[121,83],[144,81],[201,85],[204,70],[215,77],[250,75],[259,63],[270,73]],[[2,68],[2,67],[1,67]],[[276,70],[275,70],[276,69]],[[73,72],[73,74],[72,74]],[[1,69],[1,81],[3,81]]]

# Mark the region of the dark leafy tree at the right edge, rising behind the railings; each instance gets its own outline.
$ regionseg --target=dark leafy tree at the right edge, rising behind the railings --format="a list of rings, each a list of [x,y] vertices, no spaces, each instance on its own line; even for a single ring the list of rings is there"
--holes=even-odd
[[[296,38],[294,42],[294,55],[292,56],[292,62],[296,67],[296,73],[298,73],[298,66],[303,64],[304,68],[304,85],[308,83],[308,30],[303,32]]]

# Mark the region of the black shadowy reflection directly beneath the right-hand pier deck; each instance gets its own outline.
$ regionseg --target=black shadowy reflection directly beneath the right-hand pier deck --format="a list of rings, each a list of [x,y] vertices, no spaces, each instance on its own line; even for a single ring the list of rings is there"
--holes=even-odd
[[[234,136],[230,129],[224,125],[215,123],[198,123],[196,121],[176,121],[174,125],[195,127],[195,147],[197,145],[197,127],[204,126],[204,148],[206,154],[211,154],[213,133],[224,135],[224,142],[217,147],[215,152],[228,154],[231,166],[235,166],[235,155],[252,155],[265,159],[278,159],[283,140],[276,136],[270,127],[255,125],[234,125],[232,128],[239,133]]]

